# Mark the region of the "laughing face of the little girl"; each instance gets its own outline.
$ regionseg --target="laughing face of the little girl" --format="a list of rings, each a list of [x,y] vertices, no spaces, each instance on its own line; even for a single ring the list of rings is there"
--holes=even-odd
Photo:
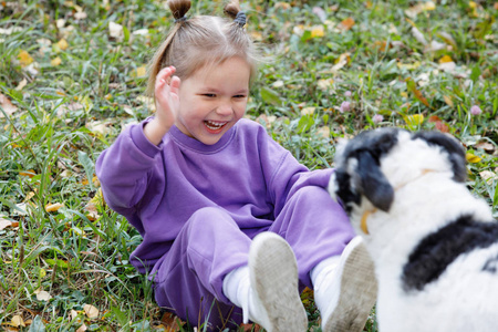
[[[246,113],[249,79],[249,64],[238,56],[199,69],[181,81],[176,126],[204,144],[217,143]]]

